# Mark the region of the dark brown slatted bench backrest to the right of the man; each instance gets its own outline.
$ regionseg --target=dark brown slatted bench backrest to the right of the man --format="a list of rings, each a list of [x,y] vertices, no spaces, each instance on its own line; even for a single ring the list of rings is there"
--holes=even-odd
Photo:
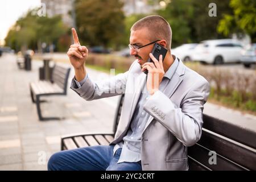
[[[192,170],[256,170],[255,139],[254,131],[204,115],[201,139],[188,148],[189,167]]]

